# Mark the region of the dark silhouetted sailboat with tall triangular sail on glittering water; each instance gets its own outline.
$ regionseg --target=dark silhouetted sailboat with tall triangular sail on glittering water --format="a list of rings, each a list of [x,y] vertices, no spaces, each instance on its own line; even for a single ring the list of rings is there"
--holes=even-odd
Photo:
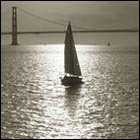
[[[65,35],[64,68],[65,76],[61,79],[63,85],[83,83],[70,22]]]

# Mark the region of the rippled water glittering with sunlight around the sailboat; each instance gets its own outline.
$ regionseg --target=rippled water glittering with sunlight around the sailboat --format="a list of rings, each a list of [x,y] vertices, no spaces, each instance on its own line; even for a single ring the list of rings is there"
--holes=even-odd
[[[2,46],[2,138],[139,138],[138,50],[76,48],[85,83],[65,87],[63,45]]]

